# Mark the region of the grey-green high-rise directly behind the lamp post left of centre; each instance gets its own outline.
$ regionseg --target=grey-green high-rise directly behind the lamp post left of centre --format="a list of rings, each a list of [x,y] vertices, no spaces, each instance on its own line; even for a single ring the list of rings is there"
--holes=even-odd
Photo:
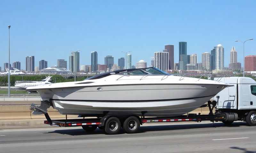
[[[71,56],[69,56],[69,70],[71,72],[78,72],[79,71],[79,52],[78,51],[72,51]]]

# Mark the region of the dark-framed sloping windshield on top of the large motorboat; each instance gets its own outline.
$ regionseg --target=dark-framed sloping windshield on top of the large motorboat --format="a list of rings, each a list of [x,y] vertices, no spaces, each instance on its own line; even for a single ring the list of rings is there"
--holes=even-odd
[[[100,79],[100,78],[107,77],[107,76],[114,75],[114,74],[118,74],[118,75],[170,75],[164,71],[161,71],[160,69],[150,67],[150,68],[142,68],[142,69],[122,69],[122,70],[117,70],[117,71],[113,71],[113,72],[95,75],[95,76],[87,78],[85,80]]]

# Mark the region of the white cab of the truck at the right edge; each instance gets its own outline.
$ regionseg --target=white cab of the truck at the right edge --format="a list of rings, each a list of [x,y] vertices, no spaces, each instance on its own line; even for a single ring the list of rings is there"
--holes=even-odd
[[[256,81],[250,77],[222,77],[214,80],[232,85],[213,98],[217,102],[217,110],[237,113],[239,119],[249,125],[256,125]]]

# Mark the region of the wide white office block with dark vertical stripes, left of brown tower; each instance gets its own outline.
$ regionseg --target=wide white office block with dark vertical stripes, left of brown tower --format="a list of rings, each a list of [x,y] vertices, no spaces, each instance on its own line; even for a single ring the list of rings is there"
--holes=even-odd
[[[167,71],[169,68],[169,53],[155,52],[154,55],[154,67],[162,71]]]

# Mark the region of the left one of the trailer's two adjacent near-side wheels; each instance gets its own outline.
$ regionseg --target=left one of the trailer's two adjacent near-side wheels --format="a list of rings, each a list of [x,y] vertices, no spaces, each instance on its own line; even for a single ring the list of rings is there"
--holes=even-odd
[[[121,128],[121,122],[117,117],[110,117],[105,124],[105,132],[109,135],[118,134]]]

